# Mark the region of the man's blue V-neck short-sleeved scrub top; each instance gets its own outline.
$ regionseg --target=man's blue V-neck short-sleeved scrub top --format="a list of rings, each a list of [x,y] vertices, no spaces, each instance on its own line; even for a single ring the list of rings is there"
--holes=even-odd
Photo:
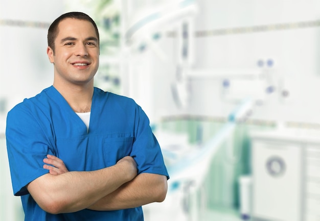
[[[117,211],[81,210],[52,215],[43,211],[26,185],[49,173],[47,154],[59,157],[70,171],[115,165],[132,156],[138,174],[169,175],[149,119],[132,99],[94,89],[90,124],[84,122],[53,87],[25,99],[7,117],[7,149],[15,195],[21,195],[25,220],[143,220],[142,208]]]

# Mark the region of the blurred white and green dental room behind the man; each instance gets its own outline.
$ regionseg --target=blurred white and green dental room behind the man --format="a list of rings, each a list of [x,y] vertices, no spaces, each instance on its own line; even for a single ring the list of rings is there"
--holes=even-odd
[[[82,11],[95,85],[150,118],[171,179],[145,220],[320,220],[320,1],[0,0],[0,220],[13,196],[7,112],[53,82],[47,30]]]

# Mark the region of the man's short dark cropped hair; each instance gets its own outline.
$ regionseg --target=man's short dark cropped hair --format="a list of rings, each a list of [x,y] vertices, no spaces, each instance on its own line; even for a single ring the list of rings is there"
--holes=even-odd
[[[96,35],[98,37],[98,43],[100,42],[99,38],[99,31],[96,22],[87,14],[83,12],[68,12],[65,14],[60,15],[56,20],[52,22],[52,24],[49,27],[48,30],[48,46],[50,46],[54,52],[55,50],[55,40],[58,35],[58,25],[60,21],[66,19],[66,18],[75,18],[78,20],[86,20],[89,21],[90,23],[93,24],[95,30],[96,30]]]

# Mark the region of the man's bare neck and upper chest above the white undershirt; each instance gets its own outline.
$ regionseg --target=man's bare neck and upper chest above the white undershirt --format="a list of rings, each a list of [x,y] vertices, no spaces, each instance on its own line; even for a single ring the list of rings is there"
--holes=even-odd
[[[77,113],[85,113],[91,111],[92,96],[94,86],[87,85],[59,85],[53,86],[60,92],[70,107]]]

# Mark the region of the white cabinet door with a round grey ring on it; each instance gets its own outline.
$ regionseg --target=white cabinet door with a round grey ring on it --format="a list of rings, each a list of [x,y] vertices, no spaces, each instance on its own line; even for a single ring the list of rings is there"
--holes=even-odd
[[[253,216],[283,221],[301,218],[301,145],[254,140]]]

